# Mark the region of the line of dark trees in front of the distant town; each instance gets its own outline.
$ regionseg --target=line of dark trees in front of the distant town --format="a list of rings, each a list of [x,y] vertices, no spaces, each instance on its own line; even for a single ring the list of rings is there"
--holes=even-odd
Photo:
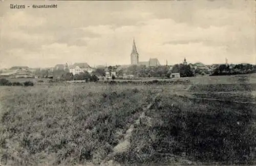
[[[88,72],[73,75],[67,70],[54,69],[47,70],[41,69],[36,70],[35,75],[41,77],[49,77],[62,79],[62,80],[97,80],[98,77],[104,77],[106,72],[116,71],[117,76],[133,75],[135,77],[167,77],[170,78],[172,73],[179,73],[181,77],[194,77],[195,75],[228,75],[228,74],[248,74],[255,73],[255,65],[252,64],[236,64],[230,65],[219,65],[214,70],[209,71],[208,69],[198,69],[191,67],[191,65],[175,64],[170,68],[167,65],[159,66],[148,66],[145,65],[131,65],[127,68],[117,70],[118,66],[108,66],[106,68],[96,68],[91,74]]]

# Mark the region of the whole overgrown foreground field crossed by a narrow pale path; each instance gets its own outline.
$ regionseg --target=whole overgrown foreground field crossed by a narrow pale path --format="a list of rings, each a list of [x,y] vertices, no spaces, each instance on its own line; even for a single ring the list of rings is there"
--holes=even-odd
[[[184,85],[0,88],[3,164],[244,163],[255,159],[252,103],[182,97],[182,91],[189,91]],[[210,97],[217,98],[216,94]],[[246,98],[236,96],[238,101]]]

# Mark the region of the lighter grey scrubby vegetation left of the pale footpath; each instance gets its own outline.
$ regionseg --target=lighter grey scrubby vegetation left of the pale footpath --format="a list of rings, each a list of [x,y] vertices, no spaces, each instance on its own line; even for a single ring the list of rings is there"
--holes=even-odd
[[[125,132],[151,95],[137,89],[73,90],[27,90],[6,97],[1,114],[2,163],[98,164],[118,144],[117,132]]]

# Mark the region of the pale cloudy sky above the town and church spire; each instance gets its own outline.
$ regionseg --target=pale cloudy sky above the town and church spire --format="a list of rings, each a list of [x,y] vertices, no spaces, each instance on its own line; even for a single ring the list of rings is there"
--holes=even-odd
[[[2,0],[0,68],[130,64],[133,39],[139,61],[255,64],[255,2]]]

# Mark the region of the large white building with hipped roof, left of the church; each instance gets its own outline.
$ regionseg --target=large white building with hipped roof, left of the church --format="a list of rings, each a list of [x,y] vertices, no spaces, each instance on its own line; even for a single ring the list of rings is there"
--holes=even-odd
[[[88,63],[74,63],[69,66],[69,72],[73,75],[88,72],[91,74],[93,72],[93,68]]]

